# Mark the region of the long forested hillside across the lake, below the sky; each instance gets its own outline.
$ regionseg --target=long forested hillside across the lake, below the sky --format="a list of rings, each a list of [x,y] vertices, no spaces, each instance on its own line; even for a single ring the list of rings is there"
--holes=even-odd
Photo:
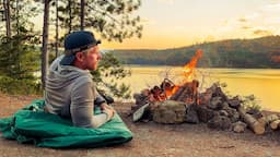
[[[196,49],[203,50],[199,67],[280,68],[280,36],[229,39],[164,50],[114,50],[113,53],[126,64],[183,65]]]

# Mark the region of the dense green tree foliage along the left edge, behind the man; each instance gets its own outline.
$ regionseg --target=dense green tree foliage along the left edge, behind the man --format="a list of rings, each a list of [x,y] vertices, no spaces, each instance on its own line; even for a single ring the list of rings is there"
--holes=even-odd
[[[34,5],[35,4],[35,5]],[[38,13],[32,1],[10,1],[11,37],[0,35],[0,90],[8,94],[38,94],[39,36],[28,17]]]

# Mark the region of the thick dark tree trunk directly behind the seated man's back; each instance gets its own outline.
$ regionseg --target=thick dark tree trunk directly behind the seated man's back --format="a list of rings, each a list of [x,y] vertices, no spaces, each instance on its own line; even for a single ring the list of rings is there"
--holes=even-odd
[[[49,0],[44,0],[44,26],[43,26],[43,47],[42,47],[42,86],[45,89],[47,70],[48,70],[48,17]]]

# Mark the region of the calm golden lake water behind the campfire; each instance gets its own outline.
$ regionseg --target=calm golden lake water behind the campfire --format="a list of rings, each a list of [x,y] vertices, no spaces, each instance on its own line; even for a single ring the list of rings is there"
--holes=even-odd
[[[131,76],[124,80],[132,93],[160,85],[164,77],[175,83],[183,80],[182,68],[128,65]],[[271,69],[197,69],[195,78],[200,82],[200,92],[214,82],[226,83],[224,88],[231,95],[254,94],[262,109],[280,111],[280,70]]]

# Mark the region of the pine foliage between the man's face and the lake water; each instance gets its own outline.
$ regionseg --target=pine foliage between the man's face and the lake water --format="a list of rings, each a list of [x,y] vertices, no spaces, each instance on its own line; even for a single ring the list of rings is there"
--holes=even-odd
[[[107,90],[107,93],[113,94],[117,98],[130,98],[130,87],[117,82],[130,75],[131,72],[126,70],[113,53],[104,53],[98,69],[91,73],[98,90]]]

